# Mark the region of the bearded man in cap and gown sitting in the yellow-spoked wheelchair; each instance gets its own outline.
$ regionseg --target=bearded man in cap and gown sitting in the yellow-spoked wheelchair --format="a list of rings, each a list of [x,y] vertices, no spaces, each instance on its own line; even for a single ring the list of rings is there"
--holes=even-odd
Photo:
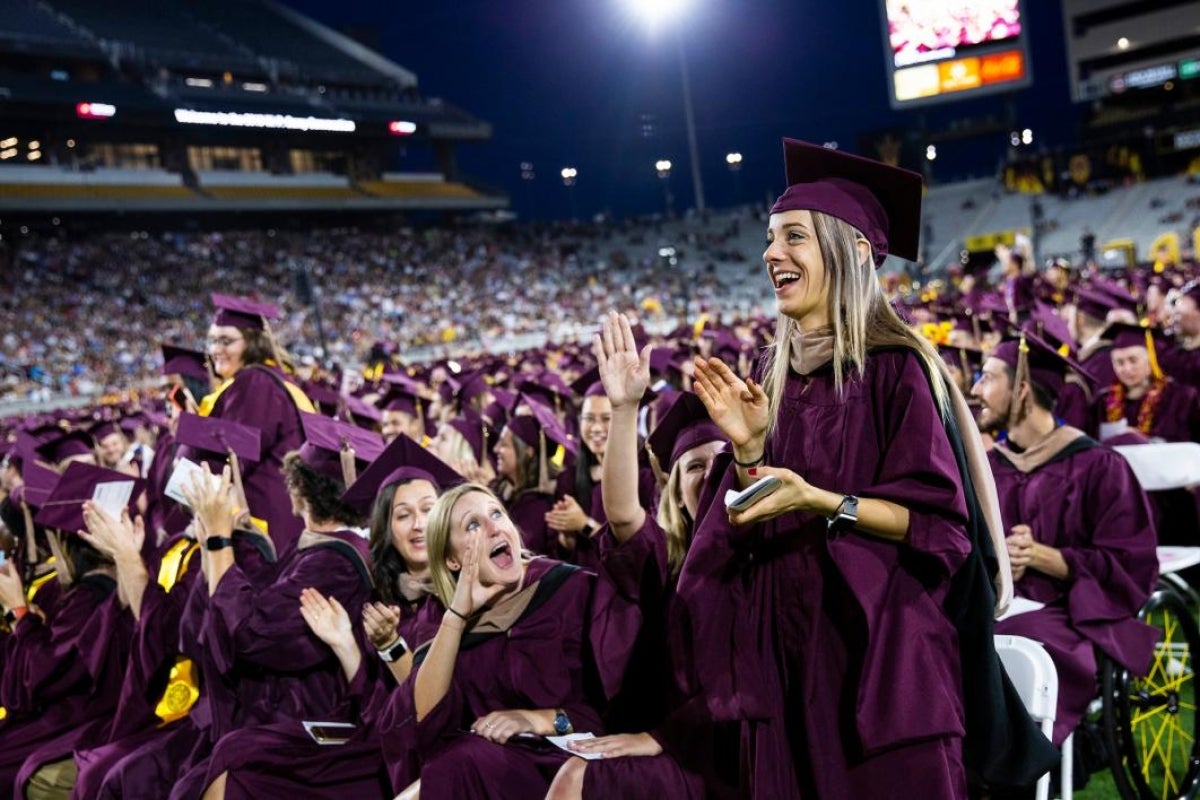
[[[1124,458],[1055,420],[1070,367],[1025,333],[996,348],[971,391],[979,428],[1007,434],[988,458],[1016,595],[1044,604],[1001,619],[996,633],[1037,639],[1054,658],[1056,745],[1096,697],[1096,650],[1144,675],[1158,636],[1136,619],[1158,576],[1146,494]]]

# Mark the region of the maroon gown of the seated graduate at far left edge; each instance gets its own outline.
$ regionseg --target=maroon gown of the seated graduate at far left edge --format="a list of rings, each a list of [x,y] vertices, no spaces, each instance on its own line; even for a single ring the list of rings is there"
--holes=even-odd
[[[116,582],[78,579],[43,622],[26,614],[0,644],[0,786],[24,798],[38,768],[108,736],[133,616]]]

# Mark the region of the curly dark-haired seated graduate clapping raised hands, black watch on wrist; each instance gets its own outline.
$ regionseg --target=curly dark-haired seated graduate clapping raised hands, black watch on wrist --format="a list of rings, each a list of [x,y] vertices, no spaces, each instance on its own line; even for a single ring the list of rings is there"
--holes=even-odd
[[[214,718],[214,747],[192,763],[173,788],[173,800],[248,796],[229,782],[229,772],[257,754],[256,732],[265,727],[268,742],[278,727],[301,721],[348,722],[353,711],[349,681],[335,655],[317,638],[300,614],[300,596],[316,589],[334,597],[358,618],[370,599],[371,554],[355,528],[361,515],[341,501],[346,483],[383,450],[383,440],[353,425],[317,414],[302,417],[305,445],[283,461],[293,509],[305,531],[292,555],[280,561],[270,585],[256,585],[235,563],[229,534],[234,509],[228,473],[222,488],[193,491],[200,539],[204,542],[209,609],[200,636],[205,644],[202,673],[208,682],[235,687],[241,720]],[[337,775],[336,753],[325,757],[325,784],[308,787],[308,796],[341,796],[342,790],[382,794],[382,770],[358,776],[349,786]],[[263,766],[264,771],[268,769]],[[325,790],[328,795],[322,795]],[[248,789],[252,793],[252,789]],[[257,795],[256,795],[257,796]]]

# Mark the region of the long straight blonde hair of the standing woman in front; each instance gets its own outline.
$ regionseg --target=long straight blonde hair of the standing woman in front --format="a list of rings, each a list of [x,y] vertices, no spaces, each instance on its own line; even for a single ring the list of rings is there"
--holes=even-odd
[[[812,211],[824,281],[829,285],[828,312],[833,327],[833,375],[838,395],[852,373],[862,374],[866,354],[872,348],[904,347],[913,350],[934,377],[934,399],[944,420],[949,414],[949,395],[942,379],[940,357],[932,345],[919,336],[888,302],[875,273],[875,260],[859,260],[858,242],[865,236],[848,222]],[[774,431],[792,361],[792,332],[798,323],[784,314],[775,325],[775,341],[767,348],[763,391],[770,403],[768,437]],[[847,368],[851,374],[847,374]]]

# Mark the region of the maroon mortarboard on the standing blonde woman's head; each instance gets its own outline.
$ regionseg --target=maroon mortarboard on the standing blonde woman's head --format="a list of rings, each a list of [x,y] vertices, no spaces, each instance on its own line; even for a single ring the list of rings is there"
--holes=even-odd
[[[772,213],[821,211],[850,223],[871,243],[875,266],[888,253],[917,260],[920,175],[797,139],[784,139],[784,162],[787,191]]]

